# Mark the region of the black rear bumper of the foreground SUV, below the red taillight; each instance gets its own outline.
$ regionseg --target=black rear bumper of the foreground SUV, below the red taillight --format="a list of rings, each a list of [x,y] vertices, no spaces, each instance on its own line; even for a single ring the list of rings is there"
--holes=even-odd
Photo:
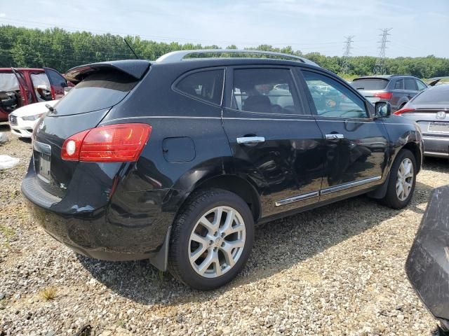
[[[22,193],[29,212],[53,238],[91,258],[150,259],[156,267],[165,270],[163,248],[168,248],[164,243],[175,216],[175,211],[166,209],[166,204],[176,200],[175,190],[124,192],[118,187],[108,200],[102,195],[90,195],[91,200],[99,201],[86,205],[81,201],[86,200],[83,193],[101,190],[93,185],[95,181],[90,181],[89,190],[70,190],[71,184],[65,197],[59,198],[43,190],[36,179],[30,164],[22,181]]]

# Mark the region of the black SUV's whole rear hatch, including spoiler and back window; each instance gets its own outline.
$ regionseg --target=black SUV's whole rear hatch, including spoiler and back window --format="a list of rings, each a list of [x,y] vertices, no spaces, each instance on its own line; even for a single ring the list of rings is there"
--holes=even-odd
[[[107,113],[125,99],[145,75],[147,61],[107,62],[79,66],[67,72],[79,82],[69,94],[39,120],[33,135],[36,180],[48,193],[63,197],[78,161],[62,160],[61,148],[73,134],[96,127]],[[118,63],[118,64],[117,64]]]

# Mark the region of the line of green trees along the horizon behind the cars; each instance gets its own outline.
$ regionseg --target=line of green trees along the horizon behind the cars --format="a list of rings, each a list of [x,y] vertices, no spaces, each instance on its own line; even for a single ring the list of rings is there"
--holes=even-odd
[[[126,36],[136,54],[142,59],[156,59],[173,51],[186,49],[218,49],[217,45],[192,43],[164,43],[149,41],[140,36]],[[236,45],[227,48],[236,49]],[[342,75],[344,59],[321,55],[319,52],[303,54],[300,50],[274,48],[259,45],[257,50],[286,52],[316,62],[323,68]],[[48,66],[64,73],[73,66],[103,62],[114,59],[135,58],[123,37],[113,34],[92,34],[88,31],[70,32],[65,29],[29,29],[11,25],[0,26],[0,67]],[[346,77],[364,76],[373,73],[376,57],[349,57],[349,71]],[[449,76],[449,59],[429,55],[427,57],[396,57],[385,60],[387,73],[403,73],[419,78]]]

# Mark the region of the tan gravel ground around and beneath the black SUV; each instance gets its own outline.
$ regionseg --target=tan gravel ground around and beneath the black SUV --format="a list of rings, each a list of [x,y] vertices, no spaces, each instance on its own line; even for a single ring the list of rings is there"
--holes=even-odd
[[[0,125],[0,132],[8,128]],[[243,273],[202,293],[149,262],[102,262],[51,239],[20,194],[31,144],[9,135],[0,154],[0,335],[431,335],[404,263],[446,160],[426,160],[402,211],[367,197],[268,223],[256,230]],[[53,300],[42,291],[55,290]],[[51,293],[50,293],[51,294]],[[47,293],[47,296],[49,293]]]

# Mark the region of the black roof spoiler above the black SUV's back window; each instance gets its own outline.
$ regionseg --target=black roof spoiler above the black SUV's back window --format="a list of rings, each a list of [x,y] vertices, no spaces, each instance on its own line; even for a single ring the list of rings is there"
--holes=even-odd
[[[110,69],[121,71],[139,80],[145,75],[150,65],[151,63],[144,59],[91,63],[69,69],[65,73],[65,78],[77,84],[91,73]]]

